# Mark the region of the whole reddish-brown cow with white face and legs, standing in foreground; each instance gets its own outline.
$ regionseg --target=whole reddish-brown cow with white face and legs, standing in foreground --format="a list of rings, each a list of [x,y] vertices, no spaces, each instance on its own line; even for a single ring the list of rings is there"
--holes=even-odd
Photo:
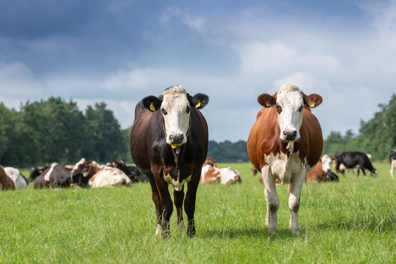
[[[289,184],[289,226],[299,234],[298,210],[305,175],[322,154],[322,129],[316,117],[305,107],[322,103],[317,94],[305,95],[295,84],[284,84],[274,95],[262,94],[257,101],[264,106],[247,139],[247,154],[261,171],[267,199],[265,222],[270,234],[278,231],[276,214],[279,198],[275,180]]]

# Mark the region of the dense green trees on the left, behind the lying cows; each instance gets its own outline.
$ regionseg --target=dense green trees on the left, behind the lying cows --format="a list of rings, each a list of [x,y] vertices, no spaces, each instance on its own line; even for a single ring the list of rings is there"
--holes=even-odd
[[[0,103],[2,165],[73,164],[81,157],[107,162],[126,157],[126,141],[126,133],[105,103],[88,106],[84,112],[76,102],[60,97],[28,101],[19,111]]]

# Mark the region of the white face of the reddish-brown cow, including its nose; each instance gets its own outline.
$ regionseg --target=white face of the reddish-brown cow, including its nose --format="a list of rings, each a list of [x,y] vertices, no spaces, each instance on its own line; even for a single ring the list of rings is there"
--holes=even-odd
[[[276,97],[276,111],[280,139],[294,142],[300,138],[300,127],[303,123],[303,94],[299,90],[279,91]]]

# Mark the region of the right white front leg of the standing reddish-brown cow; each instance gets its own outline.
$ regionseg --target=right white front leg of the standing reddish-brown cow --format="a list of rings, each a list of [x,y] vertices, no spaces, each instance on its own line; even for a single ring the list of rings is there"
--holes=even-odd
[[[300,208],[300,194],[301,187],[303,187],[306,168],[302,165],[299,173],[295,175],[290,182],[290,196],[289,196],[289,208],[290,208],[290,231],[296,235],[300,234],[300,226],[298,224],[298,210]]]

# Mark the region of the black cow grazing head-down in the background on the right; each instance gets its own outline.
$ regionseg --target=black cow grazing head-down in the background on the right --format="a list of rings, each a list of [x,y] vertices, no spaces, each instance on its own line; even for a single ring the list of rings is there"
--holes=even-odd
[[[373,167],[366,153],[349,151],[337,152],[335,154],[335,158],[337,159],[335,167],[336,171],[340,171],[340,166],[343,164],[346,169],[358,167],[358,176],[360,171],[362,171],[366,177],[365,169],[368,169],[371,172],[372,177],[378,177],[378,170]]]

